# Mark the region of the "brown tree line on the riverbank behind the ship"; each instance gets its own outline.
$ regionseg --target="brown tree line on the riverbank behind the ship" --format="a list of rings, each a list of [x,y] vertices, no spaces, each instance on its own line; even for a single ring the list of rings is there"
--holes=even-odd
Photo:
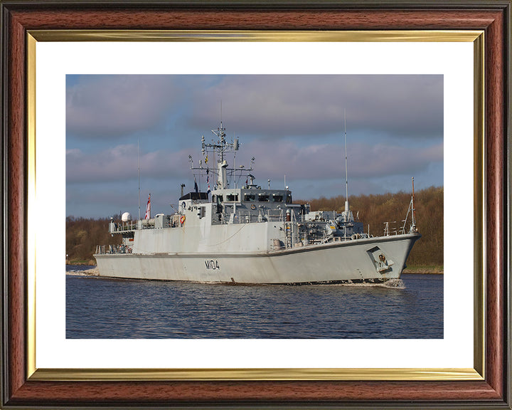
[[[363,222],[365,231],[373,236],[384,233],[385,222],[389,222],[390,231],[402,228],[407,209],[410,204],[410,194],[359,195],[349,196],[348,202],[354,216]],[[299,204],[309,203],[311,211],[336,211],[345,209],[345,197],[334,196],[309,201],[297,201]],[[415,193],[416,226],[422,234],[407,260],[408,266],[442,266],[444,239],[444,189],[431,186]],[[115,220],[121,219],[116,216]],[[97,245],[121,243],[121,236],[112,236],[108,232],[110,218],[85,219],[68,216],[66,218],[66,261],[68,263],[95,264],[92,256]],[[406,230],[410,224],[407,222]]]

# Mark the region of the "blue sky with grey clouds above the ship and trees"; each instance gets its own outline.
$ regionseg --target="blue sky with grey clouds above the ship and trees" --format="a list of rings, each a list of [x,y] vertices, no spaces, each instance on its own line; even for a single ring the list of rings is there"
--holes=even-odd
[[[66,214],[137,217],[137,144],[142,215],[172,213],[221,105],[237,167],[294,199],[345,193],[345,110],[349,195],[443,184],[442,75],[67,75]]]

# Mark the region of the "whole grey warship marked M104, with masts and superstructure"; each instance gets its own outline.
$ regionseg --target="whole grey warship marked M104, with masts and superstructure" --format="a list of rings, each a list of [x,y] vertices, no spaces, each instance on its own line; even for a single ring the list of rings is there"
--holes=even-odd
[[[415,224],[414,179],[402,227],[373,236],[354,218],[348,190],[341,214],[294,204],[288,186],[270,189],[270,180],[267,187],[255,184],[254,157],[250,167],[230,167],[226,158],[231,155],[235,163],[240,142],[226,140],[222,121],[212,132],[216,141],[211,144],[201,137],[198,167],[189,156],[195,189],[183,194],[182,187],[173,214],[151,217],[146,209],[145,219],[132,221],[126,212],[121,221],[110,221],[110,233],[121,235],[122,244],[97,246],[100,276],[296,285],[400,278],[421,237]],[[196,177],[206,179],[208,191],[198,190]]]

